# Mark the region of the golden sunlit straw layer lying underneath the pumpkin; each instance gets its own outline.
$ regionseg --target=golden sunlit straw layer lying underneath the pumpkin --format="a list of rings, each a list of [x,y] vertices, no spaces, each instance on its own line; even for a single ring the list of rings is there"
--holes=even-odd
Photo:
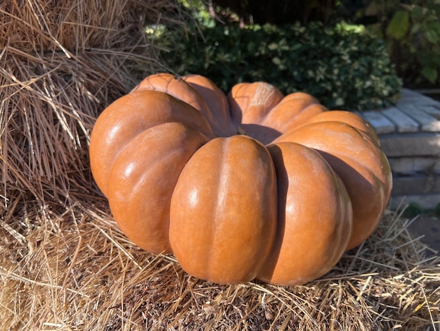
[[[0,229],[0,320],[11,330],[439,327],[440,258],[393,213],[328,275],[278,287],[190,277],[172,256],[131,244],[109,218],[106,202],[99,206],[77,205],[63,215],[23,212]]]

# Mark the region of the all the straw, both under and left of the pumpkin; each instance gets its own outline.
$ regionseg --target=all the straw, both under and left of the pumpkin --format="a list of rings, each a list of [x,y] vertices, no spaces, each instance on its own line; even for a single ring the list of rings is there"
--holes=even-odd
[[[438,330],[440,259],[390,212],[301,287],[196,280],[122,235],[89,134],[162,70],[143,24],[179,15],[171,0],[0,2],[0,330]]]

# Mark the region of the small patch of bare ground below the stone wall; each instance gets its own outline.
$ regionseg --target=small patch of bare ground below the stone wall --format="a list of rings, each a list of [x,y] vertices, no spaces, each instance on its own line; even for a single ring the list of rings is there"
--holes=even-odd
[[[424,237],[422,242],[429,244],[432,249],[440,252],[440,219],[435,216],[420,215],[409,226],[415,235]]]

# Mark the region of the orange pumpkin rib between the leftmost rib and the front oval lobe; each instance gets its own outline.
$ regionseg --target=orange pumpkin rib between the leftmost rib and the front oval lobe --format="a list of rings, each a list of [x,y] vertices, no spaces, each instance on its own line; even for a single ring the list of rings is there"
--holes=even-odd
[[[186,162],[207,140],[181,123],[164,123],[137,135],[117,156],[109,175],[110,209],[125,235],[142,249],[172,252],[168,239],[172,192]]]

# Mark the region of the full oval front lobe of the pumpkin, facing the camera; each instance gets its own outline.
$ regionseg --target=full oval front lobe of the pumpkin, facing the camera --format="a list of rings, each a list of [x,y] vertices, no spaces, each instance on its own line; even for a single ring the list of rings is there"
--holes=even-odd
[[[172,195],[174,255],[195,277],[252,280],[273,246],[276,208],[276,173],[267,149],[245,136],[212,139],[188,161]]]

